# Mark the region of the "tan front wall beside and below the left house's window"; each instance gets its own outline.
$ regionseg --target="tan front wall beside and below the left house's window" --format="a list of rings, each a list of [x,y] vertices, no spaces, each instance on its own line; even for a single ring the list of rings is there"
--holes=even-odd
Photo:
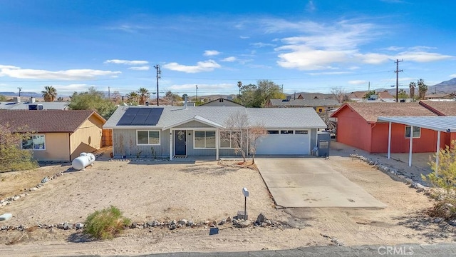
[[[71,161],[68,133],[45,133],[46,150],[33,150],[37,161]]]

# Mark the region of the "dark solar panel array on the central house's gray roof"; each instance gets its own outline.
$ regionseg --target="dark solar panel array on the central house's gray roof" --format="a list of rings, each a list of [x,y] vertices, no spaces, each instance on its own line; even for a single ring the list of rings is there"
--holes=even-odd
[[[120,118],[119,126],[156,126],[163,108],[129,108]]]

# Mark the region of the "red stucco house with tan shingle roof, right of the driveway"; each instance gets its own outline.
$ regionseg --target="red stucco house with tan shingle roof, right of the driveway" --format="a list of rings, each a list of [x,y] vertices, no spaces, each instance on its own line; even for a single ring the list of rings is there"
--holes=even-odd
[[[440,109],[443,107],[440,106]],[[445,106],[445,109],[448,107]],[[337,141],[369,153],[388,152],[388,122],[379,116],[440,116],[419,103],[346,103],[331,117],[337,118]],[[450,145],[455,133],[441,133],[440,147]],[[410,126],[392,124],[391,153],[408,153]],[[437,131],[414,127],[413,152],[435,152]]]

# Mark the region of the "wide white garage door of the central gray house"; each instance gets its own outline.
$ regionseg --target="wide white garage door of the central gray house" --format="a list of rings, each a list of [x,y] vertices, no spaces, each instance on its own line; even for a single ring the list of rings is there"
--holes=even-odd
[[[257,154],[310,154],[310,131],[305,134],[284,133],[268,134],[257,142]]]

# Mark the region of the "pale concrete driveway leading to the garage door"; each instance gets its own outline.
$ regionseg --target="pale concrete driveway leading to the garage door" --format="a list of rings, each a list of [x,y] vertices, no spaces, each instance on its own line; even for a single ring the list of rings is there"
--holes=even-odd
[[[256,158],[255,163],[278,206],[386,207],[324,158]]]

